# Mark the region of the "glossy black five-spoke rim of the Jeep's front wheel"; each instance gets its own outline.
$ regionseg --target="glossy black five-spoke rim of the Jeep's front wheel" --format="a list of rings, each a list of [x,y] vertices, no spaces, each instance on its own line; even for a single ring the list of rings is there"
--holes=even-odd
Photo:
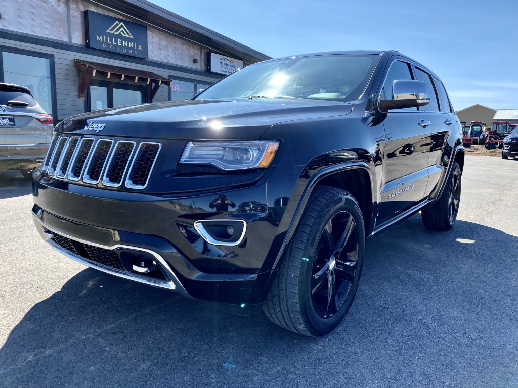
[[[322,318],[336,314],[347,300],[357,275],[358,247],[354,218],[338,212],[320,235],[311,271],[311,300]]]

